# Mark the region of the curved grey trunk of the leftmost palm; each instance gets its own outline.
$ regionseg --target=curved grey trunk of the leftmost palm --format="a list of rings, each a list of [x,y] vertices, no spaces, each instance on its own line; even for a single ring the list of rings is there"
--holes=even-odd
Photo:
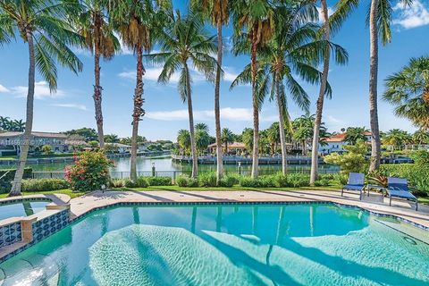
[[[12,183],[12,189],[9,193],[10,197],[21,195],[21,182],[24,174],[25,163],[29,154],[29,139],[31,137],[31,130],[33,129],[33,105],[34,105],[34,82],[35,82],[35,59],[34,59],[34,42],[33,34],[27,30],[27,42],[29,43],[29,90],[27,93],[27,114],[25,122],[25,130],[22,136],[23,142],[21,144],[20,162],[15,172],[15,177]]]

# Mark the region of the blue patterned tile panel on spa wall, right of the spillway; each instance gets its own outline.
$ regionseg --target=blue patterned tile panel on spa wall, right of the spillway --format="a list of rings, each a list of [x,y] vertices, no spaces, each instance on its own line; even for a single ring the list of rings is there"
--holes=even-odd
[[[69,223],[69,210],[63,210],[33,223],[33,242],[45,239]]]

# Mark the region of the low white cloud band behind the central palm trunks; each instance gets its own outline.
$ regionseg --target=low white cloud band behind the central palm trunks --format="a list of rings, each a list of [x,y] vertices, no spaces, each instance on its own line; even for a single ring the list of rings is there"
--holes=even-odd
[[[188,120],[188,110],[179,109],[172,111],[156,111],[148,112],[147,118],[153,120],[160,120],[166,122],[172,121],[185,121]],[[261,122],[273,122],[278,119],[277,115],[270,115],[268,117],[261,116]],[[197,121],[212,121],[214,120],[213,110],[196,110],[194,111],[194,120]],[[234,122],[251,122],[253,120],[253,112],[250,108],[221,108],[221,120],[234,121]]]

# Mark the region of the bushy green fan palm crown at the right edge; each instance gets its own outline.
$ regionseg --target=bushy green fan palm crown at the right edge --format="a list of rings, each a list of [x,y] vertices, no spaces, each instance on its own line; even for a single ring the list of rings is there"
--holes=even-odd
[[[383,99],[395,105],[396,115],[429,130],[429,57],[412,58],[389,76]]]

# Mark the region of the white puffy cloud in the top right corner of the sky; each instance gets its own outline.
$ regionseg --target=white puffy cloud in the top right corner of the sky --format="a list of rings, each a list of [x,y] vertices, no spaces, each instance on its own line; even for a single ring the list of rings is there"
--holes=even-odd
[[[429,11],[421,0],[415,0],[409,6],[396,4],[393,11],[397,12],[397,17],[393,24],[400,25],[404,29],[412,29],[429,24]]]

